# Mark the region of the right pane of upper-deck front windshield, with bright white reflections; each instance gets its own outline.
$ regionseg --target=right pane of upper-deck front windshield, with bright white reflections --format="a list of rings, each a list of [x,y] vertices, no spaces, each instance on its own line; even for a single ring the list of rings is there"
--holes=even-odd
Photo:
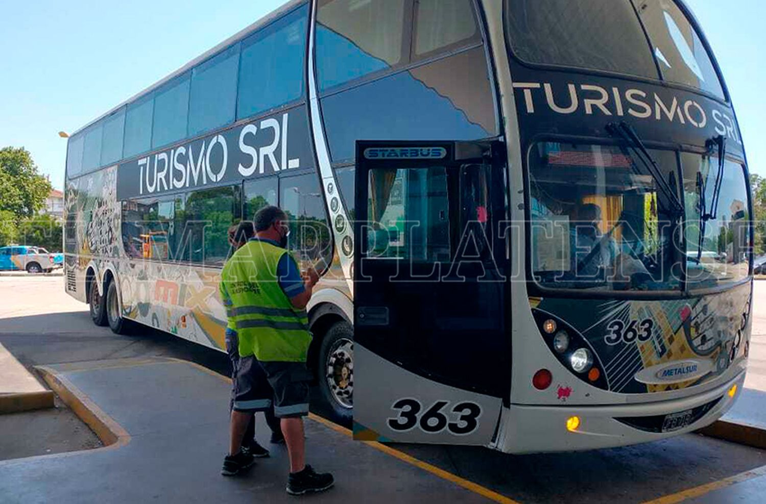
[[[671,0],[639,0],[636,6],[665,80],[724,98],[718,74],[699,35]]]

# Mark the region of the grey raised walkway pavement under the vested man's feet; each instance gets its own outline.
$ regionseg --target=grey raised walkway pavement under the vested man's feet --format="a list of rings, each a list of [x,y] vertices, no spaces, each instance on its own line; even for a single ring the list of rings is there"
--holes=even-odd
[[[128,362],[126,362],[128,361]],[[284,447],[239,478],[220,475],[231,385],[189,363],[117,359],[52,366],[126,431],[123,446],[0,463],[3,502],[294,502]],[[157,387],[158,383],[165,388]],[[259,415],[260,418],[260,415]],[[260,432],[267,431],[260,424]],[[336,474],[312,502],[488,502],[317,421],[306,421],[308,460]]]

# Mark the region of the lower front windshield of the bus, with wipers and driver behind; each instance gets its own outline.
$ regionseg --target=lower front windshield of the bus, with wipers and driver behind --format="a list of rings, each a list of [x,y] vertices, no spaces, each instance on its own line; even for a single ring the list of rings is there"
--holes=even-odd
[[[552,142],[532,148],[531,265],[539,285],[679,291],[684,263],[689,288],[717,287],[748,276],[748,197],[741,165],[725,164],[715,217],[702,219],[706,212],[699,194],[712,201],[717,159],[683,153],[679,184],[676,152],[649,152],[671,196],[681,200],[683,184],[684,219],[676,218],[669,196],[646,165],[623,148]],[[686,226],[686,252],[679,226]]]

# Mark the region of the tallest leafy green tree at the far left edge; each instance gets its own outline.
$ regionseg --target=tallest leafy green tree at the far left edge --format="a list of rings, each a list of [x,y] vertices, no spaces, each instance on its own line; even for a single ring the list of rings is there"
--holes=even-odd
[[[0,210],[17,219],[32,217],[45,205],[51,183],[38,173],[38,167],[25,148],[0,149]]]

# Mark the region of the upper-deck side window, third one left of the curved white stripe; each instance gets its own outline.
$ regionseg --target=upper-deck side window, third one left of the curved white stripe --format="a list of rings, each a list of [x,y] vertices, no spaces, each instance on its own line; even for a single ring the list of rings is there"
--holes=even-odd
[[[152,148],[168,145],[186,136],[188,106],[188,73],[165,84],[155,93]]]

